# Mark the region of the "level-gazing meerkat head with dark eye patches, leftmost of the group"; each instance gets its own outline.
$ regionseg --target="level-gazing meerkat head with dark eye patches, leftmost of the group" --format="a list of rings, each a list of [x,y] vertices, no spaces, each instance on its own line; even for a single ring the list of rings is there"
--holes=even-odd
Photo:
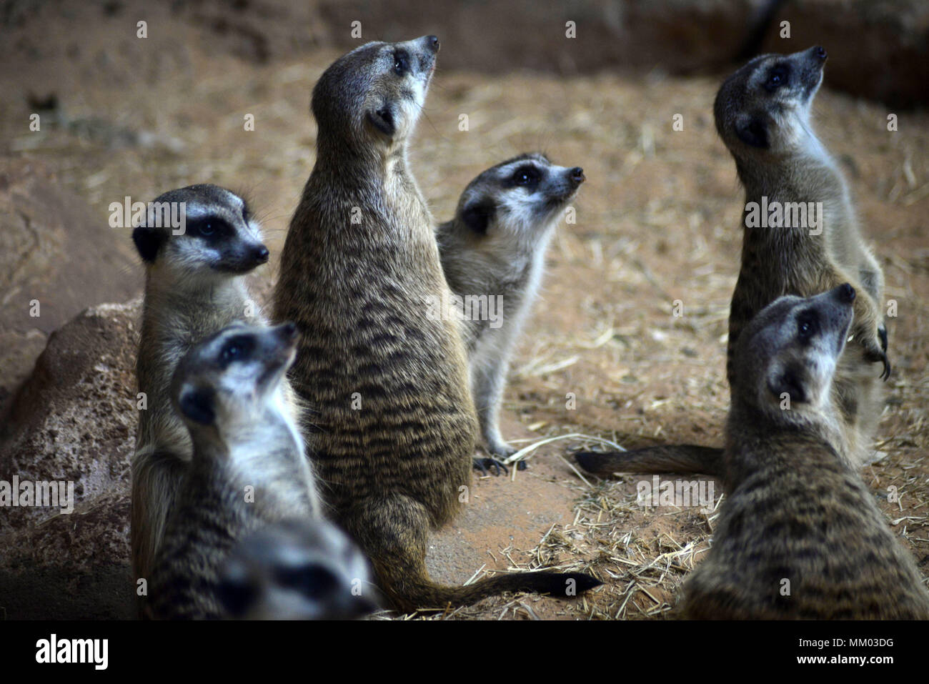
[[[190,185],[160,195],[149,204],[132,239],[142,261],[173,280],[210,283],[268,261],[268,248],[248,205],[215,185]]]

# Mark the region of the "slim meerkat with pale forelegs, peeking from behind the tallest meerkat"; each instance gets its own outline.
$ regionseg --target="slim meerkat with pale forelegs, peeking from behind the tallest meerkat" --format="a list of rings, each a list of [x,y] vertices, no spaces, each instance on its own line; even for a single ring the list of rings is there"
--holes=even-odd
[[[584,180],[580,166],[556,166],[543,154],[521,154],[472,180],[454,218],[436,230],[445,278],[464,303],[471,388],[491,456],[505,458],[517,451],[499,425],[509,358],[538,293],[545,250],[562,210]],[[477,311],[469,309],[475,301]],[[494,316],[485,315],[491,311]],[[490,465],[495,473],[505,470],[496,458]]]

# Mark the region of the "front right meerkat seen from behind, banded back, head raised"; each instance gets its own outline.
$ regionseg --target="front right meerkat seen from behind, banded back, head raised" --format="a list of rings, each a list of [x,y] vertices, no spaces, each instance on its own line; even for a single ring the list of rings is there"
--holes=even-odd
[[[726,501],[707,559],[685,581],[683,617],[929,619],[916,564],[842,454],[831,383],[856,300],[848,283],[783,296],[742,327]]]

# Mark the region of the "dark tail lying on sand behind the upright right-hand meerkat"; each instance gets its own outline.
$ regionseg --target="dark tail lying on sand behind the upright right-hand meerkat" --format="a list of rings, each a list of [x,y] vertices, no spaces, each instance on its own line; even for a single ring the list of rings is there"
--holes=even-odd
[[[577,452],[578,465],[608,478],[613,473],[723,474],[723,450],[713,446],[674,444],[628,452]]]

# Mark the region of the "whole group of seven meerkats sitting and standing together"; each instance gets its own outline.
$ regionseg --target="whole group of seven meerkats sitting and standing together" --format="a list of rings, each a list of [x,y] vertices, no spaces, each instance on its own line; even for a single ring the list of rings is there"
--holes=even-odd
[[[281,253],[269,324],[243,276],[268,261],[236,194],[169,191],[150,211],[137,358],[132,556],[153,618],[353,618],[504,591],[577,596],[584,573],[434,583],[426,535],[473,468],[505,470],[507,360],[546,245],[584,180],[524,154],[481,173],[435,226],[407,162],[438,38],[369,43],[313,89],[317,156]],[[726,501],[678,610],[712,618],[927,618],[929,593],[858,474],[889,374],[883,276],[810,104],[826,53],[752,59],[715,103],[746,202],[819,202],[824,230],[745,228],[721,449],[577,454],[585,469],[704,472]],[[503,324],[430,303],[503,296]],[[875,366],[883,362],[883,369]],[[784,409],[784,397],[789,408]],[[490,457],[475,457],[478,439]],[[785,592],[785,583],[789,589]]]

